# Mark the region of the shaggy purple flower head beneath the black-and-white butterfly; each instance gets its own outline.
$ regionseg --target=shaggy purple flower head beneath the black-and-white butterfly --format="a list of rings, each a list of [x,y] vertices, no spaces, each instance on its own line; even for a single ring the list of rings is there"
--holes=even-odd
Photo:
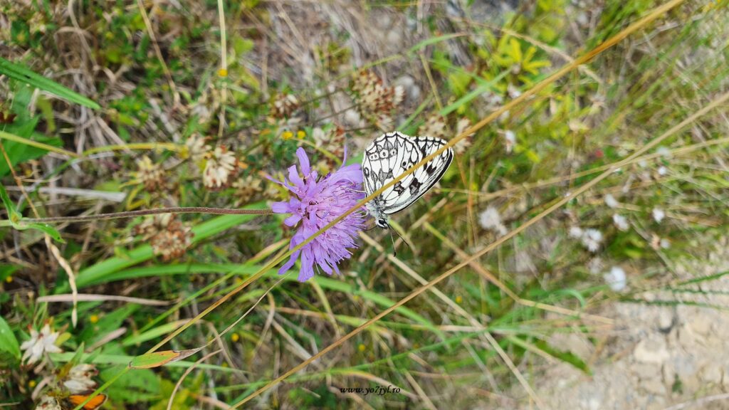
[[[303,178],[296,166],[289,167],[289,178],[284,182],[274,182],[284,185],[294,195],[288,202],[275,202],[271,206],[277,214],[292,214],[284,220],[286,225],[299,225],[289,249],[324,228],[364,198],[359,164],[342,166],[333,174],[319,178],[316,171],[309,166],[309,158],[302,148],[296,151],[296,156],[299,158]],[[330,276],[332,271],[339,274],[337,264],[351,257],[349,250],[357,247],[354,238],[364,228],[365,215],[364,209],[347,215],[337,225],[292,253],[289,261],[278,270],[278,274],[288,271],[299,257],[299,282],[305,282],[314,276],[314,265]]]

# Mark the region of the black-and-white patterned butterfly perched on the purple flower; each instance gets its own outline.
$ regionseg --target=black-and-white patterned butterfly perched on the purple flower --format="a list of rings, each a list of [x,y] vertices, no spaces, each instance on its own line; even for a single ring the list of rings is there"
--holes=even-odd
[[[382,134],[364,150],[364,192],[372,195],[445,144],[443,139],[431,136],[412,137],[397,131]],[[367,211],[375,218],[375,224],[389,228],[389,215],[402,211],[428,192],[443,177],[452,160],[453,150],[448,148],[367,202]]]

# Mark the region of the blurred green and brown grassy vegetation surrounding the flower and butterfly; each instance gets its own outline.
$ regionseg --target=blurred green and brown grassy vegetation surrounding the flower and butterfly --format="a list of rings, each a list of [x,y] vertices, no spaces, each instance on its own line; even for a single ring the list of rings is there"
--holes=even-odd
[[[209,347],[164,366],[120,373],[285,252],[285,217],[21,231],[13,214],[266,208],[288,198],[268,177],[283,179],[298,147],[324,175],[386,131],[452,139],[661,3],[1,2],[0,403],[73,408],[74,394],[107,382],[101,409],[225,409],[249,397],[719,98],[728,3],[683,2],[459,142],[440,185],[394,217],[410,247],[397,239],[395,254],[377,229],[341,276],[298,283],[272,269],[165,349]],[[728,259],[717,254],[726,108],[246,406],[543,406],[549,392],[529,386],[555,363],[588,375],[604,363],[621,331],[615,306],[726,309],[712,290],[725,272],[695,265]],[[71,303],[74,288],[90,296]],[[23,356],[34,348],[42,354]],[[721,392],[729,369],[719,380],[692,390],[677,376],[661,403]],[[343,390],[389,385],[400,392]]]

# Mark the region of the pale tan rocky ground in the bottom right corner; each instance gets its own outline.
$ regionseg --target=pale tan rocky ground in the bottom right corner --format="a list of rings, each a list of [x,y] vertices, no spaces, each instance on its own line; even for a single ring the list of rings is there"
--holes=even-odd
[[[707,260],[687,261],[677,270],[686,279],[729,271],[726,240],[716,244]],[[729,275],[685,288],[700,292],[640,295],[647,301],[681,301],[678,306],[605,306],[602,313],[616,325],[601,349],[577,333],[555,336],[561,340],[552,340],[554,346],[596,360],[593,376],[564,363],[540,376],[535,390],[545,406],[729,409]]]

